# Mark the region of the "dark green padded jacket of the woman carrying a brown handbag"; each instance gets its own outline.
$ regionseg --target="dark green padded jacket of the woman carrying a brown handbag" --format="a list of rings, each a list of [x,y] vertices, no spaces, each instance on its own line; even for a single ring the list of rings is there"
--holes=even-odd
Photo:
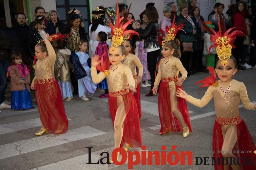
[[[182,15],[178,16],[177,18],[177,25],[184,19],[184,17]],[[184,25],[183,30],[179,30],[179,35],[177,38],[179,38],[181,40],[182,43],[186,42],[194,42],[195,41],[195,35],[193,35],[193,26],[192,24],[188,21],[185,20],[183,23],[185,23],[186,25]]]

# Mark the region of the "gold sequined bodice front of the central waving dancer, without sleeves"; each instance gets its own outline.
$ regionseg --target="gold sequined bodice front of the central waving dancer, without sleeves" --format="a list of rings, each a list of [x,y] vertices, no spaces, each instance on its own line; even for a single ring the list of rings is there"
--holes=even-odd
[[[110,92],[119,91],[128,86],[126,76],[121,71],[114,74],[114,72],[110,70],[110,74],[107,76],[107,81]]]

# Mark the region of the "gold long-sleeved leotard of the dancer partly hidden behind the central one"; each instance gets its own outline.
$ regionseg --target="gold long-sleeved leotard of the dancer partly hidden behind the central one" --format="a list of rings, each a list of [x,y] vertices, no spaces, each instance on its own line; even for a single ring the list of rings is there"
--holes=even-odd
[[[141,64],[140,59],[136,55],[129,53],[129,55],[127,55],[124,58],[123,64],[128,66],[131,69],[133,76],[135,76],[135,75],[137,76],[137,72],[136,72],[136,66],[137,66],[137,68],[139,70],[138,76],[142,77],[143,66]],[[135,80],[135,83],[138,83],[137,79],[134,79],[134,80]]]

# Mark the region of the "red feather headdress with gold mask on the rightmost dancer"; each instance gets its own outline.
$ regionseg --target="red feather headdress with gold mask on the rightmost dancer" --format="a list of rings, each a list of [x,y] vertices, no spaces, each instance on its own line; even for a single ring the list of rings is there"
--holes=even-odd
[[[218,10],[216,9],[216,11],[218,11]],[[225,67],[228,63],[230,56],[232,55],[231,49],[235,48],[233,43],[236,40],[236,36],[244,36],[244,33],[242,31],[238,31],[238,30],[232,31],[233,29],[235,29],[235,27],[230,28],[226,31],[225,23],[223,21],[222,16],[220,16],[218,14],[218,12],[216,13],[216,15],[217,15],[218,26],[219,26],[219,31],[217,31],[217,32],[215,32],[213,29],[209,28],[208,25],[206,25],[202,20],[200,20],[199,17],[197,17],[197,18],[205,26],[207,31],[211,34],[210,40],[214,44],[210,46],[209,54],[210,54],[210,49],[212,47],[216,47],[217,55],[218,55],[219,59],[221,60],[221,63]],[[230,33],[230,31],[232,31],[232,32]]]

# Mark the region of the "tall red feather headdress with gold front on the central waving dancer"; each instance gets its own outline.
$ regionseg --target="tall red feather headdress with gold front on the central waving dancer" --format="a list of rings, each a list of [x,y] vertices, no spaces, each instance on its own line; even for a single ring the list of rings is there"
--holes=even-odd
[[[117,7],[116,7],[117,19],[116,19],[115,26],[114,26],[114,22],[111,19],[111,17],[108,16],[110,18],[109,19],[109,27],[111,28],[111,30],[112,30],[111,33],[113,35],[112,44],[111,44],[112,50],[114,50],[116,47],[120,46],[123,43],[123,41],[128,40],[130,38],[130,34],[136,34],[139,36],[139,34],[136,31],[127,30],[127,26],[130,25],[132,23],[132,21],[134,21],[133,19],[127,21],[131,4],[126,12],[125,17],[121,17],[121,18],[120,18],[120,14],[119,14],[119,7],[118,7],[117,0],[116,0],[116,4],[117,4]],[[106,11],[105,8],[104,8],[104,10]],[[106,12],[106,14],[109,15],[108,12]]]

